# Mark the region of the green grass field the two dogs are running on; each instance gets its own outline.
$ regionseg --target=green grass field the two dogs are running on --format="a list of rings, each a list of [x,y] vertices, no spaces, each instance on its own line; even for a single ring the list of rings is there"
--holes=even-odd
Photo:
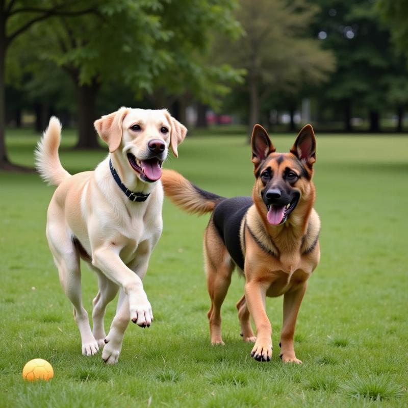
[[[294,136],[273,141],[287,150]],[[166,167],[221,195],[250,194],[244,140],[193,136]],[[33,165],[35,142],[9,133],[11,159]],[[61,160],[71,172],[105,156],[74,152],[73,142],[63,135]],[[244,282],[237,275],[223,305],[226,344],[210,346],[201,252],[208,216],[186,215],[168,201],[144,283],[154,323],[129,326],[116,366],[106,366],[100,353],[82,356],[44,235],[54,189],[36,174],[0,173],[0,406],[408,406],[407,158],[408,138],[317,135],[322,256],[298,318],[300,366],[278,356],[282,298],[267,301],[272,361],[250,358],[252,346],[239,336],[235,302]],[[90,312],[96,278],[84,266],[82,279]],[[114,309],[112,302],[107,327]],[[53,365],[52,381],[23,382],[22,367],[33,358]]]

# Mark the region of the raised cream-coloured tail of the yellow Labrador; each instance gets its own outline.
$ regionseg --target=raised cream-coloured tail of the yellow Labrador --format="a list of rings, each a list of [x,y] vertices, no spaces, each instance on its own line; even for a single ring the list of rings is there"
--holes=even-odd
[[[53,116],[49,119],[47,130],[37,143],[34,151],[35,167],[42,179],[49,185],[59,186],[70,176],[60,162],[58,148],[61,142],[61,122]]]

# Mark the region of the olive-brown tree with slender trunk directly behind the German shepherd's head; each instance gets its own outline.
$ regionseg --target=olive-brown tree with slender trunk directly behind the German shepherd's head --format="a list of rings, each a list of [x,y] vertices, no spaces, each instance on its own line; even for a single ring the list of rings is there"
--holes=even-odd
[[[334,69],[332,53],[309,36],[316,11],[303,0],[241,0],[237,19],[245,35],[229,46],[222,42],[220,48],[228,62],[247,72],[250,129],[271,93],[319,84]]]

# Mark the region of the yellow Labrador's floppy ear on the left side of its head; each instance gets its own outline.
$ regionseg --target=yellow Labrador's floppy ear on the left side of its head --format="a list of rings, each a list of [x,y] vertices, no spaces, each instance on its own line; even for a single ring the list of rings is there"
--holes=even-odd
[[[113,153],[122,140],[122,122],[129,108],[122,107],[118,111],[102,116],[95,120],[94,126],[98,135],[109,146],[109,151]]]

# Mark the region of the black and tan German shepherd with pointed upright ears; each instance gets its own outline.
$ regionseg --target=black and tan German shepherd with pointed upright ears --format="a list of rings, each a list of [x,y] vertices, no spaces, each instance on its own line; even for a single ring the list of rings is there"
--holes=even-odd
[[[284,295],[280,357],[285,363],[301,363],[293,347],[296,318],[320,259],[320,219],[313,208],[312,182],[316,139],[313,127],[305,125],[290,152],[277,153],[265,129],[257,124],[251,146],[256,177],[252,197],[224,198],[203,191],[172,170],[163,171],[162,184],[165,194],[187,212],[212,212],[204,233],[211,343],[224,344],[221,305],[237,266],[245,275],[238,318],[243,340],[255,343],[251,356],[270,361],[272,328],[265,297]]]

